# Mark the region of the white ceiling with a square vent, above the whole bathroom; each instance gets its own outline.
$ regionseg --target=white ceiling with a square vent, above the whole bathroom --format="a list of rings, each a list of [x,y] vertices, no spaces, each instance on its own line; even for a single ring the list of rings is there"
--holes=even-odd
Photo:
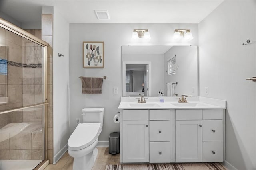
[[[224,0],[1,0],[1,12],[40,22],[42,6],[54,6],[69,23],[199,23]],[[94,10],[108,10],[98,20]]]

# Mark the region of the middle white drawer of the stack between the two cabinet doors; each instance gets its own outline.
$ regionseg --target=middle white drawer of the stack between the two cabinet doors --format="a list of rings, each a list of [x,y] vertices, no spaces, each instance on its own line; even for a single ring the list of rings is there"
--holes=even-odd
[[[149,141],[170,141],[170,121],[149,121]]]

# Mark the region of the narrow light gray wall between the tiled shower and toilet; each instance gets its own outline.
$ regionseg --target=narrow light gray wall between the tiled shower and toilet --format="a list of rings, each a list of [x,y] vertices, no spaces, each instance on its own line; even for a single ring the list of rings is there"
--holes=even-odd
[[[54,7],[53,13],[53,130],[54,163],[66,152],[69,122],[69,23]],[[58,57],[58,53],[64,55]]]

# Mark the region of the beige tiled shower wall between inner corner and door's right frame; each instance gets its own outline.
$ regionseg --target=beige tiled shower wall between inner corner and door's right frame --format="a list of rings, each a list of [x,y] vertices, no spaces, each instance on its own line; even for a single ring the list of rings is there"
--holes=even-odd
[[[25,29],[25,31],[35,35],[41,39],[41,29]],[[22,68],[22,98],[23,106],[28,106],[37,103],[43,103],[43,68],[44,62],[43,48],[40,45],[24,40],[23,49],[23,64],[35,64],[32,67]],[[37,66],[37,64],[41,64]],[[23,111],[23,122],[42,122],[43,113],[41,106],[35,109],[26,109]]]

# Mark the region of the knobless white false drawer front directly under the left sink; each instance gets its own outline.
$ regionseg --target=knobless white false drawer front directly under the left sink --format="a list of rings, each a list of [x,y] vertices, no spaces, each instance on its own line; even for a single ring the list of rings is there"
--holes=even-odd
[[[148,110],[123,110],[123,120],[148,120]]]

